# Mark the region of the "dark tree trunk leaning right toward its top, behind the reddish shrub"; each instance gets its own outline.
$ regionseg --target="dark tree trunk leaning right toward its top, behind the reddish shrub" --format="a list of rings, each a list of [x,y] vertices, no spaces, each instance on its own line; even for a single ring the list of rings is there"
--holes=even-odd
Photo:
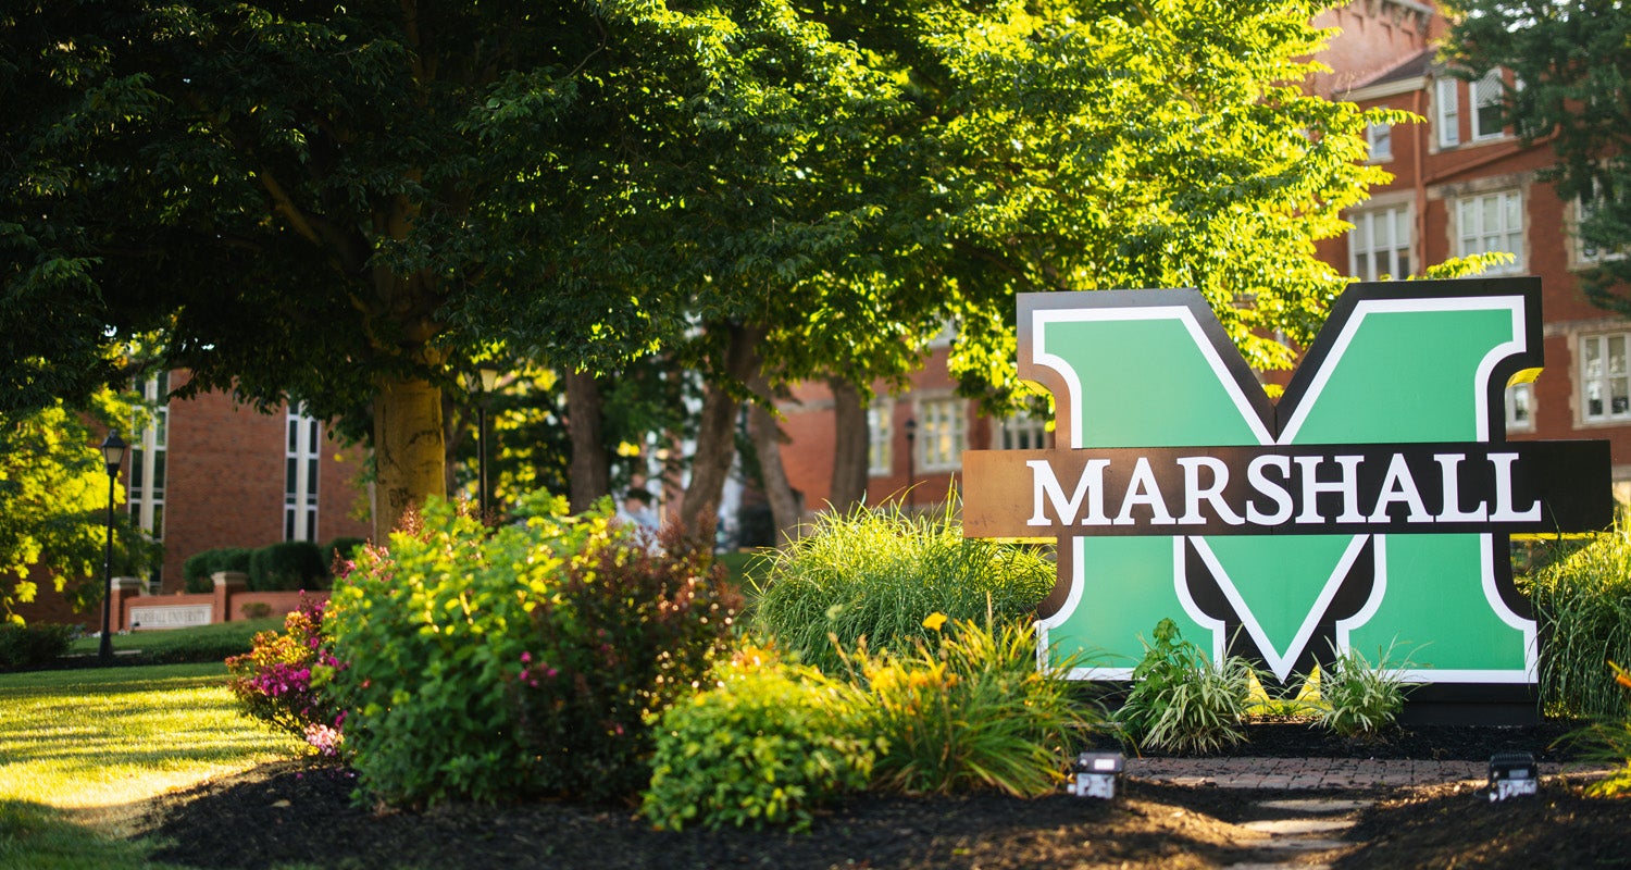
[[[703,395],[692,483],[685,488],[685,501],[680,504],[680,522],[688,534],[701,530],[703,517],[711,521],[718,516],[724,482],[731,475],[731,459],[736,455],[736,411],[742,402],[724,384],[736,384],[740,388],[758,372],[757,346],[765,338],[763,326],[732,323],[711,325],[709,330],[726,330],[727,340],[723,359],[713,361],[716,374]]]

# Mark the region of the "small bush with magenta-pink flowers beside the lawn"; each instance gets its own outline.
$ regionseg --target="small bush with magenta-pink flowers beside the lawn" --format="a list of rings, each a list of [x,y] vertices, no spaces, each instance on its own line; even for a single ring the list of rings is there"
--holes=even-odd
[[[254,635],[254,646],[227,659],[232,694],[243,713],[303,738],[316,751],[339,752],[346,712],[323,690],[344,669],[325,635],[326,602],[302,596],[282,632]]]

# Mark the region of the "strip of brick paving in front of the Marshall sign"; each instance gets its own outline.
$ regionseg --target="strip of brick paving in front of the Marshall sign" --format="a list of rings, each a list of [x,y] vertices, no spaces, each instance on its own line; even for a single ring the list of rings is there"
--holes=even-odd
[[[1607,770],[1580,764],[1540,766],[1540,774],[1584,774]],[[1125,775],[1178,785],[1220,788],[1377,788],[1434,785],[1442,782],[1489,780],[1487,761],[1414,759],[1127,759]]]

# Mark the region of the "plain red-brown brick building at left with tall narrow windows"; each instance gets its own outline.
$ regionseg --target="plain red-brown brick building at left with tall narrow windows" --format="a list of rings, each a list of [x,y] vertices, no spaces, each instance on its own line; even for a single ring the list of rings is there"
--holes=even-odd
[[[142,387],[152,400],[186,377],[166,372]],[[204,393],[160,403],[152,426],[121,436],[130,444],[119,468],[122,508],[165,544],[163,566],[148,578],[153,593],[181,591],[181,563],[201,550],[372,534],[369,490],[359,483],[364,451],[329,441],[298,411],[263,415]],[[41,601],[18,612],[31,622],[83,619],[49,588],[41,583]]]

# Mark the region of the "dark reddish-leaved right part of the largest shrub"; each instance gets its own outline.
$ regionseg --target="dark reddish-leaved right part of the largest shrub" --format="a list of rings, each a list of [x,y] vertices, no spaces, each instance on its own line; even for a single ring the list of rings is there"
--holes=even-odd
[[[709,542],[680,540],[670,527],[652,552],[626,534],[592,535],[532,609],[512,689],[533,788],[589,800],[636,793],[651,775],[654,718],[695,690],[731,635],[739,602],[724,593]]]

